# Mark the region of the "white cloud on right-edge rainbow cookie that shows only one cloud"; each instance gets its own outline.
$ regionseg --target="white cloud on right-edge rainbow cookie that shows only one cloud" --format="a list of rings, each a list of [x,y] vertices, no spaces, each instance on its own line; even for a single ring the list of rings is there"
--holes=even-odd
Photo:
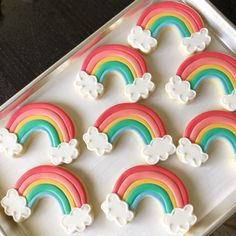
[[[187,138],[179,140],[179,146],[176,153],[180,161],[193,167],[199,167],[208,159],[208,154],[202,151],[202,148]]]

